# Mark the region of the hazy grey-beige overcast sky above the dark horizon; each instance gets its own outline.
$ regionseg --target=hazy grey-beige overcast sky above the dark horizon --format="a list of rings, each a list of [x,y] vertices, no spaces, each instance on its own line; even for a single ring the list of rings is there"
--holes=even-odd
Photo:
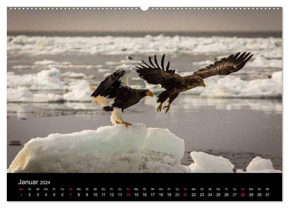
[[[282,31],[279,10],[10,10],[7,31]]]

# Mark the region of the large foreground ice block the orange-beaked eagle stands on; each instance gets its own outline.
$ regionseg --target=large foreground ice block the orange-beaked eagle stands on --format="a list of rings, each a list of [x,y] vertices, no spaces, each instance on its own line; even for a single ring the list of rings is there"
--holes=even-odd
[[[179,147],[179,152],[172,152],[177,158],[168,155],[171,146],[166,143],[166,139],[158,141],[158,144],[166,147],[163,152],[157,153],[155,149],[149,148],[153,147],[150,144],[153,140],[149,138],[146,141],[147,135],[153,135],[156,131],[161,138],[170,138],[170,145],[180,143],[180,139],[168,130],[147,129],[143,124],[50,134],[46,138],[34,138],[27,142],[7,172],[190,172],[188,166],[179,162],[179,155],[183,154],[184,148]],[[146,149],[143,149],[144,144]]]

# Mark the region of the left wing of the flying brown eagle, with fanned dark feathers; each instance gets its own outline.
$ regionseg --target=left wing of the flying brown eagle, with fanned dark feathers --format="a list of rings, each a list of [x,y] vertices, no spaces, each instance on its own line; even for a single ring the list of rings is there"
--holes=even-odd
[[[138,68],[136,69],[136,72],[138,73],[138,76],[140,78],[144,79],[149,84],[155,85],[160,84],[161,87],[165,89],[172,86],[177,86],[182,82],[182,77],[177,73],[175,73],[175,70],[169,69],[170,62],[168,62],[165,68],[164,61],[165,61],[165,54],[162,57],[160,67],[159,64],[157,63],[157,56],[154,55],[154,62],[156,65],[155,66],[151,61],[151,57],[149,56],[149,63],[151,64],[151,66],[149,64],[146,64],[146,62],[142,60],[145,66],[139,64],[140,67],[136,66]]]

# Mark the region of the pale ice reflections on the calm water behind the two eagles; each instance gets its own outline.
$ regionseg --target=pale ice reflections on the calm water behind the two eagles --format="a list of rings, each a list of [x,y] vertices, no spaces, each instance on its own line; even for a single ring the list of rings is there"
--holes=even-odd
[[[154,98],[145,97],[143,104],[147,106],[157,106],[156,96]],[[126,111],[132,110],[127,109]],[[170,116],[177,116],[181,110],[200,109],[250,109],[253,111],[263,111],[270,115],[271,112],[282,114],[282,99],[218,99],[218,98],[200,98],[191,95],[180,95],[174,100],[170,109]],[[101,111],[102,109],[91,103],[7,103],[7,114],[17,114],[18,120],[27,119],[27,114],[32,113],[36,116],[61,116],[77,114],[88,114],[91,111]],[[72,113],[71,113],[71,112]]]

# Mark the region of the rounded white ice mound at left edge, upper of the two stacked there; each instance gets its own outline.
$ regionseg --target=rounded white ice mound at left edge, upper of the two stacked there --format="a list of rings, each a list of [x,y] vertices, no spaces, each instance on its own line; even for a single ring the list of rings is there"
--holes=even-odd
[[[7,73],[7,87],[26,86],[34,90],[62,90],[65,85],[56,68],[42,70],[36,74],[12,75]]]

